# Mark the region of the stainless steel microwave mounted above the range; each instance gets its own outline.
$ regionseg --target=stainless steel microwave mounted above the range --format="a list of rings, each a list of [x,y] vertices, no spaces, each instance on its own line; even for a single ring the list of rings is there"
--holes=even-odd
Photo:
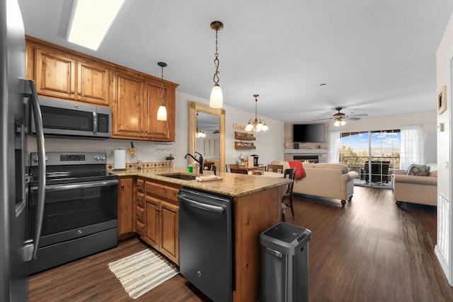
[[[110,108],[50,98],[39,98],[39,104],[42,127],[47,137],[108,139],[111,135]],[[30,124],[30,133],[35,134],[34,121]]]

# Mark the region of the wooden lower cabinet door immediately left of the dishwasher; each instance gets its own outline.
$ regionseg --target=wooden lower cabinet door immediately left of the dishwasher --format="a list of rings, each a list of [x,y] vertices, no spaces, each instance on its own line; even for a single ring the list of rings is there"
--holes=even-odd
[[[161,252],[179,265],[179,210],[176,205],[161,202]]]

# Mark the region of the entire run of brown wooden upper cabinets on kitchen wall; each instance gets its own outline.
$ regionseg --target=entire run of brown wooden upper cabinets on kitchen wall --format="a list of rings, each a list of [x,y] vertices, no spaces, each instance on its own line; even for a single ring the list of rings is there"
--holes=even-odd
[[[175,141],[176,87],[164,81],[167,120],[157,120],[161,79],[26,37],[27,77],[39,95],[112,108],[112,138]]]

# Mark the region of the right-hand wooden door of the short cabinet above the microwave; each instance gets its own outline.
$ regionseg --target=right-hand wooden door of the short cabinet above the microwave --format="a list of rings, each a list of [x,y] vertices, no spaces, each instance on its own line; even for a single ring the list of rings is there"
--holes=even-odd
[[[109,69],[101,64],[77,62],[77,100],[110,105]]]

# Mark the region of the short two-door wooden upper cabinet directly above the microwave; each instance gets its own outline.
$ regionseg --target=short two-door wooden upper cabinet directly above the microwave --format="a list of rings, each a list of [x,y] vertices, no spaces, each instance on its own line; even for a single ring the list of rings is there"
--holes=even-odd
[[[110,105],[109,68],[35,47],[35,83],[40,95]]]

